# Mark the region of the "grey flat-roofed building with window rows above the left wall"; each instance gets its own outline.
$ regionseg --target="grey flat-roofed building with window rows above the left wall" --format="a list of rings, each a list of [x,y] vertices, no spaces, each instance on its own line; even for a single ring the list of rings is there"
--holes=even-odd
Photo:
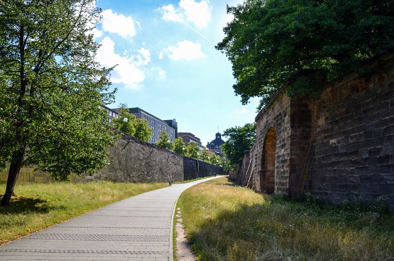
[[[129,112],[139,119],[148,121],[148,125],[152,129],[152,137],[149,143],[155,143],[163,130],[169,134],[171,141],[174,141],[178,137],[178,124],[175,119],[161,120],[139,107],[129,108]]]

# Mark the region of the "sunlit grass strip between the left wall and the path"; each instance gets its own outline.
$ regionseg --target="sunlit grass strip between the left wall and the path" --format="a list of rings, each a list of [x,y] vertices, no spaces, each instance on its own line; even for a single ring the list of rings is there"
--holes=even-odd
[[[168,183],[36,183],[16,185],[9,207],[0,208],[0,243]],[[0,184],[5,191],[5,184]]]

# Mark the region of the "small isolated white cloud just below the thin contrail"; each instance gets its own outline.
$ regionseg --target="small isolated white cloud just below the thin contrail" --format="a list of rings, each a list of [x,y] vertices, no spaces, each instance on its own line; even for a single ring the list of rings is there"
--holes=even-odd
[[[173,60],[193,60],[204,57],[201,52],[201,44],[191,41],[178,42],[176,46],[170,46],[165,51],[169,52],[169,58]]]

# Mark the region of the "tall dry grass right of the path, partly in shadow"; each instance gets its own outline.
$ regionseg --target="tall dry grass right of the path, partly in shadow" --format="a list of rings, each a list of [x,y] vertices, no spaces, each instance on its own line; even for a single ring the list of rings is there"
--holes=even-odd
[[[312,195],[286,201],[225,178],[193,186],[178,201],[199,259],[215,261],[394,260],[394,215],[377,205],[321,205]]]

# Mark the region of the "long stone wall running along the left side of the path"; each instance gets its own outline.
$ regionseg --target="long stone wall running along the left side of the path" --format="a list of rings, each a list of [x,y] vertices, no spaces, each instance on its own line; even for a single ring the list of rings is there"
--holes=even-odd
[[[133,183],[179,182],[198,177],[223,175],[223,167],[170,152],[155,144],[129,135],[122,135],[116,147],[108,148],[111,164],[97,173],[70,175],[72,182],[113,181]],[[197,169],[198,164],[198,169]],[[52,182],[49,173],[33,172],[34,166],[21,169],[17,184]],[[0,182],[6,182],[8,172],[0,173]]]

